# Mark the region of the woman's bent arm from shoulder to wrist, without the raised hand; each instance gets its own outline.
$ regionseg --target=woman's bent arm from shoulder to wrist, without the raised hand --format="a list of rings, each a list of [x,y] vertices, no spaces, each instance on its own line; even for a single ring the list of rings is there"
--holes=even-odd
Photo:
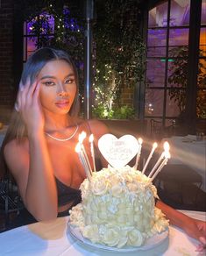
[[[57,216],[57,192],[44,135],[33,135],[29,145],[28,152],[11,141],[4,148],[5,160],[25,208],[39,221],[52,219]]]

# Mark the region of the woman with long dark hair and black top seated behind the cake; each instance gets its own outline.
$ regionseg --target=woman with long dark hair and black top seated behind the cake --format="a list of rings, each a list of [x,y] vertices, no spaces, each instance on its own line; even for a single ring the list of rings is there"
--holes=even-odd
[[[93,133],[97,148],[97,140],[108,132],[102,123],[82,121],[77,113],[78,77],[72,60],[60,50],[39,49],[25,64],[16,110],[3,145],[5,163],[18,184],[25,208],[38,221],[62,216],[81,201],[78,188],[85,173],[75,153],[78,134]],[[88,141],[85,146],[87,150]],[[203,244],[203,222],[164,203],[157,206],[171,224]]]

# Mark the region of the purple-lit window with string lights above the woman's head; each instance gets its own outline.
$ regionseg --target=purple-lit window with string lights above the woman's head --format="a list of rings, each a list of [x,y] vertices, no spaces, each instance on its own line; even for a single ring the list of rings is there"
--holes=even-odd
[[[74,10],[73,10],[74,11]],[[39,47],[56,46],[75,53],[78,63],[83,48],[83,27],[65,5],[58,9],[50,4],[39,15],[24,24],[24,62]],[[81,60],[79,60],[81,59]]]

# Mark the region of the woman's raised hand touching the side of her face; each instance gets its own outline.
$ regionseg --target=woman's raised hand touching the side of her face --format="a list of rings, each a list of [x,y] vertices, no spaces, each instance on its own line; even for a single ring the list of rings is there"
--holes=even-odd
[[[44,129],[44,116],[39,103],[39,82],[31,84],[27,81],[25,85],[20,82],[16,110],[20,112],[28,134],[33,134]]]

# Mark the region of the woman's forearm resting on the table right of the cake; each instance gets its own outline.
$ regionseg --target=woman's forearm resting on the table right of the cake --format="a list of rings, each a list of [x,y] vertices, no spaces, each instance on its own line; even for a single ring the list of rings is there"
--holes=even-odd
[[[188,236],[195,238],[206,245],[206,222],[188,217],[161,201],[156,203],[156,207],[162,210],[167,219],[169,219],[170,224],[180,227],[188,234]]]

